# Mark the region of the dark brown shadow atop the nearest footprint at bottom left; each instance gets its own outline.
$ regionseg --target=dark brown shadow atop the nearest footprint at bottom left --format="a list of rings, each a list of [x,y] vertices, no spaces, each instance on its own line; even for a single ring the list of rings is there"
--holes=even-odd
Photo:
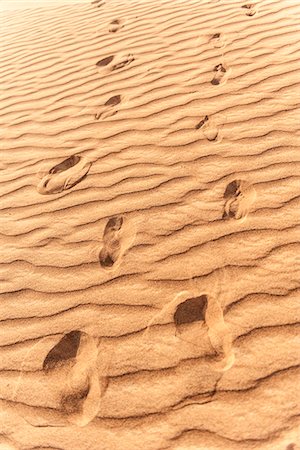
[[[43,370],[46,372],[76,357],[80,344],[80,331],[71,331],[56,344],[46,356]]]

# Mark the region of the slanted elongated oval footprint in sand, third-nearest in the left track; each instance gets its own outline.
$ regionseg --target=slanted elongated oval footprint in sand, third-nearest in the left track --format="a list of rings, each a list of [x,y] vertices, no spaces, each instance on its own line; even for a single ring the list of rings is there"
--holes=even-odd
[[[84,157],[73,155],[52,167],[37,186],[40,194],[58,194],[70,189],[85,178],[91,163]]]

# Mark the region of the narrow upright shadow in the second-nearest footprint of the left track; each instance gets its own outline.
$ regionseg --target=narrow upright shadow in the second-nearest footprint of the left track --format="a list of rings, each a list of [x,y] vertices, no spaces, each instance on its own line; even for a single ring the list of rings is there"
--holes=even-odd
[[[108,220],[103,233],[103,248],[99,255],[101,267],[110,269],[118,260],[121,253],[120,234],[123,217],[116,216]]]

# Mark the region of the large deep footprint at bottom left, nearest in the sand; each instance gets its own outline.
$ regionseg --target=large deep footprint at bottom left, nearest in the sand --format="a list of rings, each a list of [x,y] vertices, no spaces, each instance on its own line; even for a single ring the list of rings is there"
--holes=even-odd
[[[96,340],[84,332],[65,335],[48,353],[43,368],[46,373],[67,367],[66,379],[61,380],[60,409],[67,420],[85,426],[97,415],[105,382],[97,368]],[[101,383],[100,383],[101,381]]]

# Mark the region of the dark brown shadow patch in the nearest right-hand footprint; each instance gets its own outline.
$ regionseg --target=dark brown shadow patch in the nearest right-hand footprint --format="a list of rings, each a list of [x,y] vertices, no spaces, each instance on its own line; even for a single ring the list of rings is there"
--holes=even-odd
[[[189,298],[180,303],[174,314],[176,328],[180,325],[205,320],[205,311],[207,308],[207,296]]]

